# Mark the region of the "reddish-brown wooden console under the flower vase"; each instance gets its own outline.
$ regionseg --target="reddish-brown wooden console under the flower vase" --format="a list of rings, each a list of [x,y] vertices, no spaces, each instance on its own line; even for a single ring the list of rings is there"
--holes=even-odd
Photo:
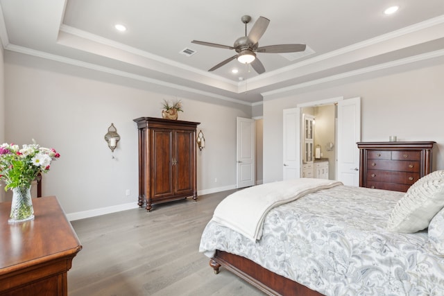
[[[0,203],[0,295],[68,295],[67,271],[82,249],[55,196],[33,198],[35,219],[8,224]]]

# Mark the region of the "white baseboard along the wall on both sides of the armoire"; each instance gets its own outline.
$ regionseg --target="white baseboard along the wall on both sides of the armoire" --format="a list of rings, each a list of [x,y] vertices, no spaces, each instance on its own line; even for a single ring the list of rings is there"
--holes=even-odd
[[[223,187],[217,187],[212,189],[204,189],[198,191],[198,195],[204,195],[204,194],[210,194],[210,193],[216,193],[221,191],[227,191],[231,189],[236,189],[236,185],[230,185],[230,186],[223,186]],[[77,211],[75,213],[67,214],[67,218],[69,221],[74,220],[80,220],[85,218],[91,218],[95,216],[101,216],[105,214],[111,214],[116,213],[117,211],[126,211],[127,209],[137,209],[139,206],[137,205],[137,202],[130,202],[127,204],[116,204],[111,207],[103,207],[99,209],[89,209],[87,211]]]

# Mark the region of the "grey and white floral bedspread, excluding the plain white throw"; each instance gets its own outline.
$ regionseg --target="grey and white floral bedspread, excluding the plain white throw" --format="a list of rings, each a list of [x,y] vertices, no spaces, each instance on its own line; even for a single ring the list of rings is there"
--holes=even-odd
[[[210,221],[199,250],[244,256],[324,295],[444,295],[444,256],[427,230],[384,229],[403,194],[343,185],[309,193],[272,209],[256,242]]]

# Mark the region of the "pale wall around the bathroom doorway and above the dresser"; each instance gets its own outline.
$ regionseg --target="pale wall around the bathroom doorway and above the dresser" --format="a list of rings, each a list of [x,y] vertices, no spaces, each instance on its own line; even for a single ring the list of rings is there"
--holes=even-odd
[[[444,169],[443,78],[441,62],[264,101],[264,183],[282,180],[282,110],[339,96],[361,97],[361,141],[392,134],[398,141],[436,141],[433,170]]]

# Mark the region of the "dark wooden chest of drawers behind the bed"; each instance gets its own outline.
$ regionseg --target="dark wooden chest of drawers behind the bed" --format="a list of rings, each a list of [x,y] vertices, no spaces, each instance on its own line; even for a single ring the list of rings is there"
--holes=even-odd
[[[432,171],[434,141],[359,142],[359,186],[406,192]]]

